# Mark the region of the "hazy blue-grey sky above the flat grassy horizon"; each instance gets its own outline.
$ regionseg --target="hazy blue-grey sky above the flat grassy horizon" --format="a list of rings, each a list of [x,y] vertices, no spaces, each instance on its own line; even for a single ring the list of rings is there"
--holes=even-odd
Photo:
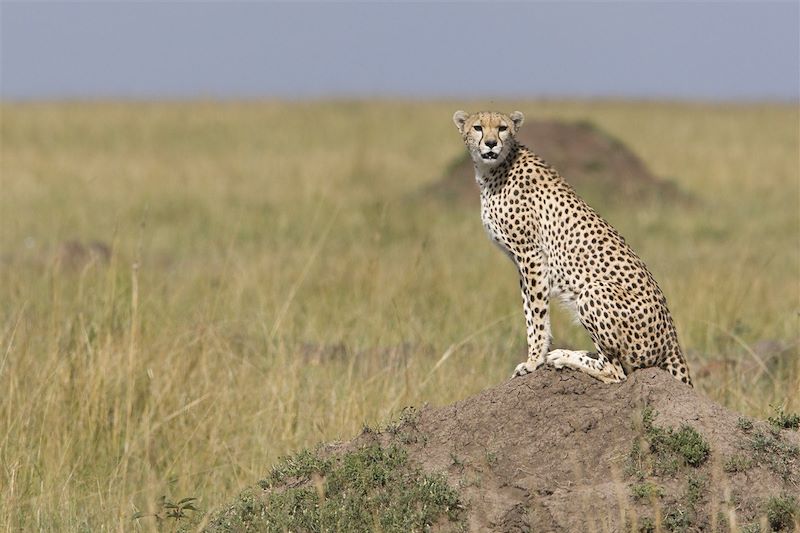
[[[0,2],[7,100],[800,92],[796,0]]]

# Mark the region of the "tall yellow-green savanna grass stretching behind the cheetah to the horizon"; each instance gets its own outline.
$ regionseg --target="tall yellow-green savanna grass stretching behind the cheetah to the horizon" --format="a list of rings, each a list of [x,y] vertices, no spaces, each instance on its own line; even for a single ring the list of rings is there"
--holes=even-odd
[[[161,496],[216,507],[279,456],[507,379],[513,266],[477,191],[420,194],[463,153],[460,107],[591,121],[693,196],[596,207],[698,390],[800,410],[796,106],[7,103],[0,528],[150,529],[131,516]],[[588,346],[558,311],[553,330]]]

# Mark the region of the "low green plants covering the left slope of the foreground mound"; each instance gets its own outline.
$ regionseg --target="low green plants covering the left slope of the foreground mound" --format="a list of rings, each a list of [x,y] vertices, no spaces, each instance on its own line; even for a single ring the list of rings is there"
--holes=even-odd
[[[279,462],[259,485],[263,491],[245,490],[216,512],[207,530],[463,529],[463,505],[456,491],[443,477],[412,467],[396,444],[368,445],[327,459],[304,451]]]

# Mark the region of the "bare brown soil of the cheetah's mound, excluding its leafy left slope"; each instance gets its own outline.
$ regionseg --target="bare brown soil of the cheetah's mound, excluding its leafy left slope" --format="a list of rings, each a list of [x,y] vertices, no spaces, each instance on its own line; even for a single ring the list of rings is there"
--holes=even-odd
[[[656,435],[681,431],[709,447],[696,466],[655,449]],[[461,521],[439,531],[739,531],[769,524],[771,498],[800,494],[797,431],[745,419],[653,368],[622,384],[537,371],[319,453],[375,444],[399,444],[458,491]]]

